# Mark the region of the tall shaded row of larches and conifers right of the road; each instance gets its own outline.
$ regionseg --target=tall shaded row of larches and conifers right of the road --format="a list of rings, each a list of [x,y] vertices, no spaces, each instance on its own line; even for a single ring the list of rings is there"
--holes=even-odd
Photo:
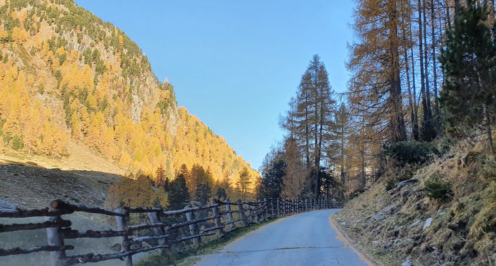
[[[312,57],[260,168],[262,194],[354,197],[393,165],[388,149],[443,137],[482,138],[493,153],[494,1],[356,0],[353,19],[347,89],[335,93]]]

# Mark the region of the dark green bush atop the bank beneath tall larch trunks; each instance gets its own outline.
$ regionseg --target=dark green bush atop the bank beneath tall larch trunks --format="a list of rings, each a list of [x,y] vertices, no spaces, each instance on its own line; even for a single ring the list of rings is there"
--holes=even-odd
[[[439,155],[437,148],[428,142],[401,141],[385,144],[384,154],[400,164],[422,163]]]

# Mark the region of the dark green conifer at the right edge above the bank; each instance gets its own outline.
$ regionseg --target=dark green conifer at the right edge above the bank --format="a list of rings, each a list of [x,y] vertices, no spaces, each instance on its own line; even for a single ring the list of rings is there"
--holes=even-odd
[[[467,0],[466,5],[460,5],[439,56],[446,77],[439,100],[448,132],[460,134],[466,126],[483,124],[492,151],[490,114],[495,113],[496,47],[488,19],[485,2]]]

